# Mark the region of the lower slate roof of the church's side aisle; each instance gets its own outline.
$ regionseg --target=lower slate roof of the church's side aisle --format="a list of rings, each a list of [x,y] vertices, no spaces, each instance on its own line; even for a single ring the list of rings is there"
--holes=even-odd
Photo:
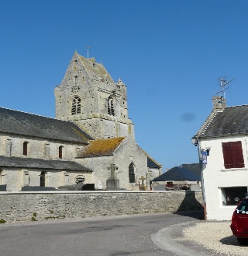
[[[32,169],[46,169],[46,170],[92,170],[83,167],[79,163],[64,161],[64,160],[43,160],[35,158],[23,157],[6,157],[0,156],[0,167],[22,167]]]

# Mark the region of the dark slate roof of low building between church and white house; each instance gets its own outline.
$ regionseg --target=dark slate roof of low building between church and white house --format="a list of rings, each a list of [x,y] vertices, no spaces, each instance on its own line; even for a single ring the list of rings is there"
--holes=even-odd
[[[153,181],[201,181],[201,177],[192,174],[190,170],[184,167],[173,167],[166,173],[153,179]]]

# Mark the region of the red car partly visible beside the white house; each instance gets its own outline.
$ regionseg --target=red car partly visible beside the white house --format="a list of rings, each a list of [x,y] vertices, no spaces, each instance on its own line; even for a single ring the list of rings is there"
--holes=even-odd
[[[248,198],[244,198],[232,214],[231,230],[239,244],[248,245]]]

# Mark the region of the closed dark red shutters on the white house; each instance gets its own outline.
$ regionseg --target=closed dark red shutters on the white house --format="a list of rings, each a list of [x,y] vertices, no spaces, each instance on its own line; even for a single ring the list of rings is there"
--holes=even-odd
[[[226,169],[243,168],[242,143],[239,142],[222,142],[222,152],[224,158],[224,166]]]

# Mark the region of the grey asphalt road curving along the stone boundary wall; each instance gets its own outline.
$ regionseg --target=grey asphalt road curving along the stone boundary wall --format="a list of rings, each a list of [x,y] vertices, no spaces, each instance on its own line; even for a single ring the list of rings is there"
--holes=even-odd
[[[197,219],[202,219],[202,212],[5,223],[0,225],[0,255],[188,255],[183,249],[173,250],[177,245],[167,230]]]

